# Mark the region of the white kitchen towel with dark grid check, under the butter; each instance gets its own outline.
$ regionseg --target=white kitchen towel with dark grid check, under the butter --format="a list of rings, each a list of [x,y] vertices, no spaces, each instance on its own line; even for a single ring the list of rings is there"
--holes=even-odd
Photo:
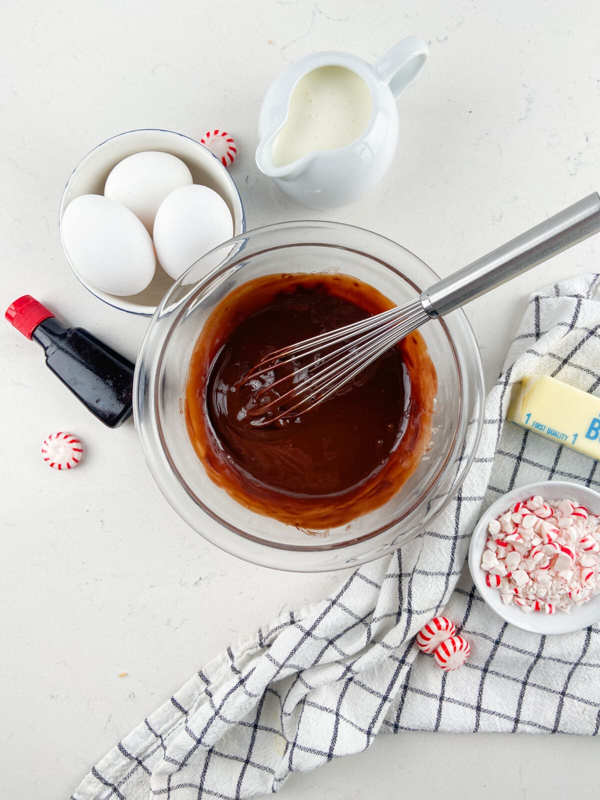
[[[255,797],[291,771],[364,750],[380,731],[598,734],[600,626],[547,638],[508,626],[475,590],[466,554],[482,501],[546,478],[600,486],[597,462],[503,424],[524,374],[599,392],[599,287],[600,275],[588,275],[530,299],[487,398],[474,465],[430,530],[198,670],[94,767],[74,800]],[[472,646],[450,674],[414,645],[441,611]]]

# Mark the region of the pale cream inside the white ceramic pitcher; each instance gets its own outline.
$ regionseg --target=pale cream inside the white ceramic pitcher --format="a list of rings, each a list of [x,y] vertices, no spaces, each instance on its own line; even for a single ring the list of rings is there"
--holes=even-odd
[[[338,150],[369,123],[373,98],[363,79],[342,66],[321,66],[301,78],[290,96],[285,125],[273,146],[274,166],[313,150]]]

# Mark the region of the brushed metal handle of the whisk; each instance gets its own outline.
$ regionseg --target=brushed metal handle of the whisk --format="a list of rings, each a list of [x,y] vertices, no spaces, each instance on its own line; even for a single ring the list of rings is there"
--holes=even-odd
[[[430,286],[421,295],[423,308],[430,317],[449,314],[598,231],[600,196],[594,192]]]

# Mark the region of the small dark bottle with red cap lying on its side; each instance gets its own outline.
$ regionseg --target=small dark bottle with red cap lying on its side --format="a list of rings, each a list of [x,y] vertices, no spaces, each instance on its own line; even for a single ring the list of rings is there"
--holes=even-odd
[[[6,319],[42,346],[46,364],[92,414],[110,428],[130,417],[134,365],[83,328],[70,328],[30,294],[6,310]]]

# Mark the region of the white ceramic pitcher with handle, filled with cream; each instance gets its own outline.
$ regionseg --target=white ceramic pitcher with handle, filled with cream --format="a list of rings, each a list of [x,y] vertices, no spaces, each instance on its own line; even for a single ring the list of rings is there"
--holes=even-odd
[[[256,163],[303,206],[346,206],[386,173],[398,143],[396,101],[429,50],[410,36],[371,65],[347,53],[306,55],[271,84]]]

